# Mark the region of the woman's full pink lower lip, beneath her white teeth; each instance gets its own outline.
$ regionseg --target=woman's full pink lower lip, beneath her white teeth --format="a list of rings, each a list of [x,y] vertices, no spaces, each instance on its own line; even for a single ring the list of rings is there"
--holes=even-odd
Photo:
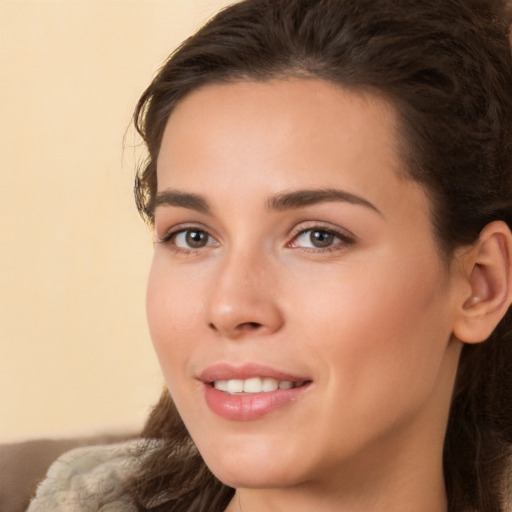
[[[208,407],[222,418],[233,421],[255,420],[272,411],[297,400],[309,387],[305,384],[298,388],[277,389],[263,393],[230,395],[205,384],[205,397]]]

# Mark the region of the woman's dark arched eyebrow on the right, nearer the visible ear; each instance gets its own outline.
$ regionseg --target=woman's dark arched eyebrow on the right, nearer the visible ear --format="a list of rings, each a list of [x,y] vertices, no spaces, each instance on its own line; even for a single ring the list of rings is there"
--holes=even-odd
[[[306,189],[286,192],[271,197],[267,201],[268,210],[295,210],[305,206],[311,206],[318,203],[344,202],[364,206],[377,212],[380,216],[382,212],[370,201],[363,197],[338,189]]]

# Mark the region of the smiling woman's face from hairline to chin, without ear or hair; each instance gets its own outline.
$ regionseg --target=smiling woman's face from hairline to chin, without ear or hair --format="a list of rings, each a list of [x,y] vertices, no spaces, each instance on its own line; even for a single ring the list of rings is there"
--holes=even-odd
[[[169,119],[150,331],[231,486],[440,463],[461,286],[395,131],[384,100],[300,79],[207,86]]]

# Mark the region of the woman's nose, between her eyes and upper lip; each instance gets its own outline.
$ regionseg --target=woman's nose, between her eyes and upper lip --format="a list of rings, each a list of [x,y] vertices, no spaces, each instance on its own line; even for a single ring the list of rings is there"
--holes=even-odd
[[[230,339],[277,332],[284,323],[278,279],[262,257],[232,254],[219,263],[208,304],[208,327]]]

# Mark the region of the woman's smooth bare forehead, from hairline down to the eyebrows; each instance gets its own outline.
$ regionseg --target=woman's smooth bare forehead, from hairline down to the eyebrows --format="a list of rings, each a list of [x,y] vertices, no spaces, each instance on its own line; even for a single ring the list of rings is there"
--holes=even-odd
[[[247,187],[278,194],[337,186],[391,204],[413,185],[398,140],[395,110],[377,95],[316,79],[208,85],[169,118],[158,189],[229,197]]]

